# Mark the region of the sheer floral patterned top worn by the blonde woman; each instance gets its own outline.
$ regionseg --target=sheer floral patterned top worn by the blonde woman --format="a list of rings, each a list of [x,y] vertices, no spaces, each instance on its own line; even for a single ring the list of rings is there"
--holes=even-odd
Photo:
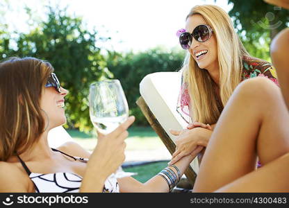
[[[276,85],[279,86],[276,69],[270,62],[261,60],[258,58],[252,58],[249,56],[243,57],[243,68],[242,68],[242,80],[247,78],[254,78],[256,76],[263,76],[272,80]],[[190,123],[190,94],[188,92],[188,83],[181,81],[181,91],[179,94],[177,111],[187,123]]]

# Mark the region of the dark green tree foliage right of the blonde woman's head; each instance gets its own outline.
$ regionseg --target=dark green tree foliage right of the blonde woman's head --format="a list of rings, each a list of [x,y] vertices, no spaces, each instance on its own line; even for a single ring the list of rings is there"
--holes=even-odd
[[[289,11],[262,0],[228,0],[229,15],[246,49],[252,55],[270,60],[272,38],[288,25]]]

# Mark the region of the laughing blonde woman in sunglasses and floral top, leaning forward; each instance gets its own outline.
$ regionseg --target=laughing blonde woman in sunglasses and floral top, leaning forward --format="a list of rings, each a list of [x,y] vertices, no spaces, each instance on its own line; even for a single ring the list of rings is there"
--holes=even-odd
[[[229,15],[218,6],[192,8],[185,29],[177,35],[182,48],[188,50],[179,112],[191,119],[187,130],[171,130],[179,135],[171,164],[184,155],[204,152],[224,106],[242,80],[263,76],[278,85],[272,64],[249,55]]]

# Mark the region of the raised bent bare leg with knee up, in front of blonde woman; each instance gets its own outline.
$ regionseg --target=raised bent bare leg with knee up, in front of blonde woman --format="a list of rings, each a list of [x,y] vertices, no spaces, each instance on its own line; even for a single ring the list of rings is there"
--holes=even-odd
[[[288,153],[288,123],[279,87],[267,78],[242,82],[217,122],[193,191],[216,191],[254,171],[257,155],[265,165]]]

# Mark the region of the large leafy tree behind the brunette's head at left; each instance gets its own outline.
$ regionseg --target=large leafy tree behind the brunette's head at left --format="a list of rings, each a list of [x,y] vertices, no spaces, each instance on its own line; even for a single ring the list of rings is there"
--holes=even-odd
[[[29,12],[29,10],[28,10]],[[65,102],[69,128],[90,130],[89,85],[108,76],[106,60],[96,42],[104,40],[97,31],[88,31],[81,18],[69,17],[66,9],[48,7],[47,20],[30,33],[9,38],[0,33],[0,55],[32,56],[51,62],[63,87],[69,90]]]

